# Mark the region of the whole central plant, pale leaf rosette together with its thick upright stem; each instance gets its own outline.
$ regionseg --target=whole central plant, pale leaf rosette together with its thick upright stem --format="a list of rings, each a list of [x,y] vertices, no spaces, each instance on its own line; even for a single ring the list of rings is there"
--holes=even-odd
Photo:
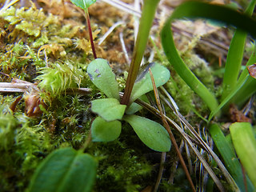
[[[107,126],[107,124],[113,123],[113,121],[125,120],[130,123],[136,134],[138,134],[138,137],[146,144],[146,146],[149,146],[150,149],[158,151],[170,150],[170,138],[163,126],[149,119],[132,115],[132,112],[123,116],[125,109],[129,107],[130,104],[143,94],[153,90],[148,71],[149,67],[156,78],[155,82],[157,87],[165,84],[170,78],[170,72],[158,63],[151,64],[142,72],[141,76],[137,78],[158,2],[159,1],[155,0],[144,1],[138,38],[134,48],[133,59],[130,64],[126,89],[121,102],[119,102],[118,82],[115,81],[114,74],[108,65],[108,62],[98,58],[93,62],[90,62],[90,65],[87,68],[87,73],[89,74],[91,81],[94,82],[94,85],[108,97],[106,99],[98,99],[91,102],[91,110],[101,117],[96,118],[92,123],[91,132],[93,141],[99,141],[98,138],[102,138],[101,141],[106,142],[109,141],[109,138],[112,138],[113,140],[118,138],[121,124],[117,124],[118,127],[112,129],[112,131],[106,131],[106,138],[102,137],[101,130],[103,130],[104,126]],[[135,113],[136,110],[133,110],[133,112]],[[154,129],[149,129],[149,127],[154,127]],[[115,137],[113,135],[115,135]]]

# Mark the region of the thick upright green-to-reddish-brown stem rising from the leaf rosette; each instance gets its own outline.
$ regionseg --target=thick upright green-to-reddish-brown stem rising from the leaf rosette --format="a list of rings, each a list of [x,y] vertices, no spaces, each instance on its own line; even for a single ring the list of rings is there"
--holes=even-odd
[[[133,58],[130,63],[129,74],[126,81],[126,89],[121,101],[122,105],[128,105],[130,94],[134,87],[134,82],[138,75],[138,69],[142,62],[142,57],[146,48],[146,43],[150,35],[150,28],[154,20],[154,14],[160,0],[144,0],[142,17],[138,28],[138,37],[134,47]]]

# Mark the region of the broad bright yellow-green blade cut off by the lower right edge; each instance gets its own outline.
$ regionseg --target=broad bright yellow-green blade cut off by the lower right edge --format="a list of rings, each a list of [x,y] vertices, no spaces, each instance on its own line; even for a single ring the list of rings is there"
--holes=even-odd
[[[256,187],[256,139],[250,122],[233,123],[230,126],[230,134],[238,158]]]

